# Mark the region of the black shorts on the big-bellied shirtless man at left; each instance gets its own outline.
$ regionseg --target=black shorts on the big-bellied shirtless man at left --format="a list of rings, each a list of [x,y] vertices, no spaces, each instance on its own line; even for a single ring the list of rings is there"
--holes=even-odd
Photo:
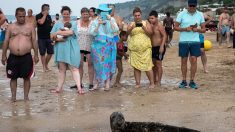
[[[33,59],[31,53],[23,56],[10,54],[7,59],[7,77],[11,79],[30,78],[33,74]]]

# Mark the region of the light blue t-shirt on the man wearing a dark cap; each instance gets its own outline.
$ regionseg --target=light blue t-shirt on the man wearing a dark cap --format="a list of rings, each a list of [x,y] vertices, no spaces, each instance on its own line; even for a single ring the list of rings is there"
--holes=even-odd
[[[204,16],[202,12],[196,11],[194,14],[188,12],[188,10],[184,10],[179,13],[176,18],[176,22],[180,23],[181,28],[189,27],[190,25],[197,24],[200,26],[205,22]],[[180,42],[200,42],[199,33],[198,32],[180,32]]]

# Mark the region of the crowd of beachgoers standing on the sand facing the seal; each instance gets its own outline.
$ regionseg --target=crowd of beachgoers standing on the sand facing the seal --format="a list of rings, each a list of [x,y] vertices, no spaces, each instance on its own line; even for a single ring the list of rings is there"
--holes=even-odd
[[[180,32],[179,56],[181,57],[182,82],[179,88],[191,87],[197,89],[195,82],[197,58],[202,55],[204,71],[207,71],[206,55],[203,50],[205,25],[211,18],[197,10],[197,0],[188,0],[188,8],[180,12],[174,21],[167,13],[163,24],[158,19],[158,13],[151,11],[149,19],[142,19],[142,11],[134,8],[134,21],[128,24],[115,12],[115,5],[100,4],[98,8],[84,7],[81,18],[71,20],[71,9],[63,6],[56,19],[52,20],[48,4],[43,4],[41,12],[35,17],[33,11],[19,7],[15,11],[16,22],[7,28],[2,47],[2,64],[6,65],[7,77],[11,79],[10,87],[12,101],[16,101],[17,79],[24,80],[24,99],[29,100],[30,78],[34,65],[40,60],[43,72],[50,71],[48,66],[52,56],[58,67],[57,86],[50,90],[61,93],[65,82],[66,71],[70,70],[75,81],[78,94],[84,94],[83,74],[87,62],[90,91],[104,85],[104,91],[109,91],[111,80],[116,73],[114,86],[121,87],[123,70],[122,60],[128,59],[134,70],[136,88],[141,86],[141,72],[145,72],[149,79],[149,88],[161,85],[163,74],[162,61],[166,48],[171,44],[173,31]],[[234,6],[235,11],[235,6]],[[206,21],[205,21],[206,19]],[[219,30],[221,34],[228,32],[228,28],[235,30],[235,14],[228,26],[226,12],[221,14]],[[6,20],[0,11],[0,25]],[[36,33],[37,32],[37,33]],[[37,34],[37,35],[36,35]],[[235,33],[234,33],[235,36]],[[221,42],[221,41],[220,41]],[[128,44],[128,48],[125,43]],[[229,43],[227,41],[227,43]],[[235,48],[233,37],[233,48]],[[7,50],[10,54],[7,57]],[[31,55],[33,49],[33,59]],[[128,49],[128,52],[127,52]],[[124,58],[123,58],[124,57]],[[187,62],[190,61],[190,79],[187,82]],[[189,84],[188,84],[189,83]]]

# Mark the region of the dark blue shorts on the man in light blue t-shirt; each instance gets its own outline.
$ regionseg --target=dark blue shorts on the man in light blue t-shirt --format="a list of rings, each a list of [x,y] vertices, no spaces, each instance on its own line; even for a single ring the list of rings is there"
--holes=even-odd
[[[179,56],[188,57],[190,55],[190,56],[199,57],[201,56],[200,47],[201,47],[200,42],[180,42]]]

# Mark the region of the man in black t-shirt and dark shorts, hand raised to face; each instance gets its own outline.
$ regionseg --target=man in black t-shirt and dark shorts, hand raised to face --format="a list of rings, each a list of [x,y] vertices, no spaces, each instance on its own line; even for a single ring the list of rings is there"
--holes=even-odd
[[[41,55],[43,72],[49,71],[48,63],[54,54],[52,41],[50,39],[50,32],[52,29],[52,19],[49,15],[49,5],[43,4],[41,13],[36,15],[37,33],[38,33],[38,46]],[[46,55],[47,52],[47,55]]]

